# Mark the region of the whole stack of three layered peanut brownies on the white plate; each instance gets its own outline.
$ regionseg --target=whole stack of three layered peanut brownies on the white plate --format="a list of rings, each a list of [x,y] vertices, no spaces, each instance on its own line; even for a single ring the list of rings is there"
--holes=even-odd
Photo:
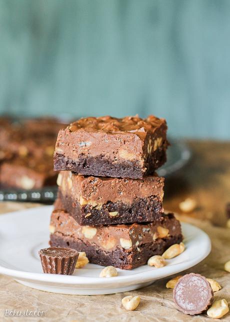
[[[162,207],[166,122],[154,116],[87,117],[59,131],[58,198],[50,245],[85,251],[91,263],[132,269],[182,240]]]

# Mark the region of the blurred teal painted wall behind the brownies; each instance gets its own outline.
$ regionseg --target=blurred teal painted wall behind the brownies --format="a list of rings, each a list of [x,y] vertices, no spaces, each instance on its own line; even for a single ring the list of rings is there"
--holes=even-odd
[[[230,138],[229,0],[0,0],[0,112]]]

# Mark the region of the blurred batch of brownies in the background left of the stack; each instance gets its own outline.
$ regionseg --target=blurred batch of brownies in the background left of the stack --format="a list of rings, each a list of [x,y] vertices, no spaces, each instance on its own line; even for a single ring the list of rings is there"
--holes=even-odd
[[[56,184],[53,152],[61,127],[53,118],[0,117],[0,186],[32,189]]]

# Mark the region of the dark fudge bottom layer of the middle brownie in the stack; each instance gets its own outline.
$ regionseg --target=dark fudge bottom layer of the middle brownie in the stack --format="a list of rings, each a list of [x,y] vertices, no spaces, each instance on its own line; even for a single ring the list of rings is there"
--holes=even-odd
[[[58,197],[64,209],[80,225],[148,222],[159,219],[163,213],[162,201],[156,196],[149,196],[144,199],[135,198],[132,204],[125,204],[121,201],[108,201],[102,204],[99,209],[88,204],[80,205],[71,196],[63,196],[60,190],[58,191]],[[117,214],[114,215],[114,212],[117,212]]]

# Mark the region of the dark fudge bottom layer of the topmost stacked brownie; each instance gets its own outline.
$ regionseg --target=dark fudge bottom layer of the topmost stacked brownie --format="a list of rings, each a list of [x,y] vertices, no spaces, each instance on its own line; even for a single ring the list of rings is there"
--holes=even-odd
[[[154,173],[155,169],[165,163],[167,144],[164,145],[165,148],[158,148],[153,153],[151,162],[148,160],[147,168],[140,166],[137,161],[112,162],[109,159],[105,159],[103,155],[101,157],[79,155],[77,160],[73,160],[56,153],[54,156],[54,170],[71,170],[82,175],[142,179],[144,175]]]

